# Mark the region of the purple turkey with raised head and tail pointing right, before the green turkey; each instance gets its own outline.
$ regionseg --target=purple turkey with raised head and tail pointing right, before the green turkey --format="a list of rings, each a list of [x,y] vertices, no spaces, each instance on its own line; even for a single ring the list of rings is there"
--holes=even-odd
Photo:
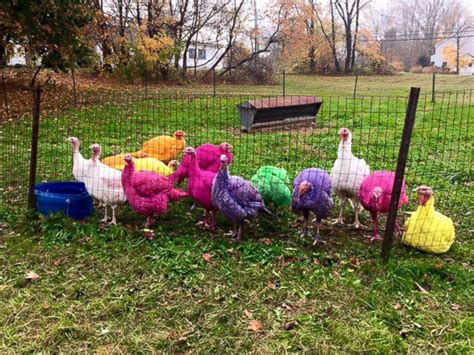
[[[228,158],[220,157],[221,166],[212,185],[212,203],[234,224],[236,240],[242,237],[245,220],[255,219],[259,213],[271,216],[257,188],[240,176],[230,176]]]

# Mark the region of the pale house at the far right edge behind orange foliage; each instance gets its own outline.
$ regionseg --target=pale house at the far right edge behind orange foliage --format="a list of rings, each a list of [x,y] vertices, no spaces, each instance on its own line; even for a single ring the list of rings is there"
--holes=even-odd
[[[456,51],[456,38],[448,38],[436,44],[435,52],[431,56],[431,65],[436,68],[449,68],[450,72],[455,72],[456,65],[453,65],[453,60],[446,58],[446,52],[449,51]],[[455,55],[455,52],[451,55]],[[463,58],[459,75],[474,75],[474,38],[461,38],[459,56]]]

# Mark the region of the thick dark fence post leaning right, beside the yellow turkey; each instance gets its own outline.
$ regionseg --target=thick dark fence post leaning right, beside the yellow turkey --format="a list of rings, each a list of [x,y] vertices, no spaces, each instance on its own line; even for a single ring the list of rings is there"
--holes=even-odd
[[[390,200],[390,210],[388,212],[387,224],[385,226],[385,235],[382,245],[382,259],[388,262],[390,250],[393,242],[393,231],[398,212],[398,202],[402,191],[403,177],[405,175],[405,167],[408,158],[408,150],[410,148],[411,135],[415,124],[416,108],[418,99],[420,98],[420,88],[412,87],[408,98],[408,105],[405,115],[405,124],[403,126],[402,140],[400,142],[400,150],[398,153],[397,170],[395,171],[395,181],[393,182],[392,198]]]

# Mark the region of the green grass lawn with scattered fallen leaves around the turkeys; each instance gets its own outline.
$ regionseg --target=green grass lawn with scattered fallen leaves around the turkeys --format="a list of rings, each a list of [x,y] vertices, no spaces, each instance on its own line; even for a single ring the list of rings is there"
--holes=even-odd
[[[411,84],[429,85],[427,77],[409,77],[360,84],[367,94],[397,96]],[[372,170],[395,168],[405,99],[354,101],[334,96],[351,93],[351,78],[324,85],[325,78],[298,77],[298,85],[295,78],[288,78],[288,92],[319,94],[318,88],[323,96],[314,127],[241,133],[235,104],[250,97],[227,95],[120,101],[124,96],[123,104],[103,101],[43,117],[38,180],[72,178],[68,135],[83,140],[83,154],[99,142],[106,156],[178,128],[190,145],[232,143],[231,171],[246,178],[264,164],[285,167],[291,178],[309,166],[330,169],[342,126],[353,131],[353,152]],[[473,86],[472,78],[443,76],[439,82],[447,90]],[[143,218],[128,207],[119,210],[116,227],[101,225],[100,212],[86,223],[37,218],[21,207],[29,123],[5,123],[0,351],[469,353],[472,106],[469,92],[440,95],[435,105],[422,97],[407,167],[409,189],[430,184],[438,209],[453,217],[455,245],[442,256],[397,246],[387,266],[380,245],[368,242],[370,231],[326,225],[326,243],[314,247],[300,237],[289,211],[246,225],[241,243],[224,236],[230,225],[223,218],[215,233],[199,230],[201,211],[190,211],[191,201],[174,204],[157,221],[152,241],[143,237]],[[410,197],[401,218],[415,208]],[[370,223],[367,213],[363,222]]]

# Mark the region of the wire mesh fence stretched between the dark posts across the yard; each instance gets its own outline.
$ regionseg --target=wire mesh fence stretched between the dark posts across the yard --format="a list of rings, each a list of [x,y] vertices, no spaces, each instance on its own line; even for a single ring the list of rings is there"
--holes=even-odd
[[[352,135],[351,153],[364,159],[371,172],[395,170],[406,97],[322,97],[323,104],[313,120],[244,132],[237,105],[275,98],[278,96],[149,91],[78,94],[76,108],[61,109],[58,103],[60,109],[41,116],[37,182],[73,179],[67,137],[79,138],[85,158],[92,156],[92,144],[100,144],[103,159],[138,152],[150,139],[173,135],[178,130],[185,132],[186,146],[223,142],[232,145],[231,173],[246,179],[268,165],[284,168],[288,181],[309,167],[329,173],[338,157],[338,133],[343,127]],[[285,99],[290,106],[301,100],[288,95]],[[472,228],[473,106],[472,90],[439,92],[435,102],[430,93],[421,96],[405,175],[410,203],[402,207],[402,218],[418,205],[418,193],[413,189],[427,185],[436,197],[436,210],[452,217],[457,227]],[[8,204],[24,204],[31,145],[30,115],[2,122],[0,142],[2,198]],[[183,149],[177,153],[172,158],[182,160]],[[292,188],[291,183],[287,185]],[[337,195],[333,198],[331,216],[337,217],[340,199]],[[352,222],[353,215],[347,209],[343,217],[345,222]],[[370,215],[362,213],[361,221],[370,225]]]

